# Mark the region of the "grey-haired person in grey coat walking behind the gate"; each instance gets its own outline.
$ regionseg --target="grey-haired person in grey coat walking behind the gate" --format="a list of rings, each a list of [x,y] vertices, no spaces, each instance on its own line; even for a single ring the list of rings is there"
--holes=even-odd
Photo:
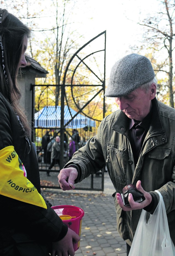
[[[56,136],[56,140],[52,145],[51,164],[47,170],[47,176],[50,176],[49,170],[51,170],[55,164],[60,165],[60,137],[59,136]]]

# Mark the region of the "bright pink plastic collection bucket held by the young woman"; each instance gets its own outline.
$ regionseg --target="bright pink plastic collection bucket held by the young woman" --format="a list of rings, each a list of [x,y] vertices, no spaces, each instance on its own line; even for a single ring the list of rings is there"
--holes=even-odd
[[[52,206],[52,208],[68,228],[75,231],[79,236],[81,235],[81,222],[84,216],[84,211],[81,208],[72,205],[57,205]],[[74,243],[74,251],[77,251],[79,247],[80,241]]]

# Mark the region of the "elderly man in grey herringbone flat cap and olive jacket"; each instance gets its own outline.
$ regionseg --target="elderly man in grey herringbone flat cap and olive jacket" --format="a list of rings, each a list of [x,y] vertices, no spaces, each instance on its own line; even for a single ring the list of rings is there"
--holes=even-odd
[[[154,190],[163,196],[175,243],[175,110],[155,98],[156,85],[152,65],[145,56],[129,54],[116,62],[105,96],[114,97],[120,110],[103,119],[97,135],[59,174],[61,188],[69,190],[107,165],[116,190],[117,229],[126,240],[127,255],[140,209],[153,213],[159,202]],[[145,200],[135,202],[129,194],[130,206],[124,206],[121,193],[128,184],[136,185]]]

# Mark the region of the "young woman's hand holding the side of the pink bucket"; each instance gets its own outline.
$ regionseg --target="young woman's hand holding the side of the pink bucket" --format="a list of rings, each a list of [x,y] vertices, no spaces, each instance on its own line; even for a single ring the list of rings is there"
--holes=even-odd
[[[80,237],[73,230],[68,228],[68,232],[62,240],[52,243],[51,256],[74,256],[75,252],[72,241],[74,243],[78,243],[78,241],[80,241]]]

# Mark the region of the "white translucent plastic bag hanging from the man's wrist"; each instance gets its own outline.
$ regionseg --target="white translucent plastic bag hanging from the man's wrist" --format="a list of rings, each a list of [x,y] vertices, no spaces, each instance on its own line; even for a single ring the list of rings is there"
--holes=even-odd
[[[163,197],[156,210],[146,222],[147,212],[142,210],[129,256],[175,256],[175,247],[170,238],[167,214]]]

